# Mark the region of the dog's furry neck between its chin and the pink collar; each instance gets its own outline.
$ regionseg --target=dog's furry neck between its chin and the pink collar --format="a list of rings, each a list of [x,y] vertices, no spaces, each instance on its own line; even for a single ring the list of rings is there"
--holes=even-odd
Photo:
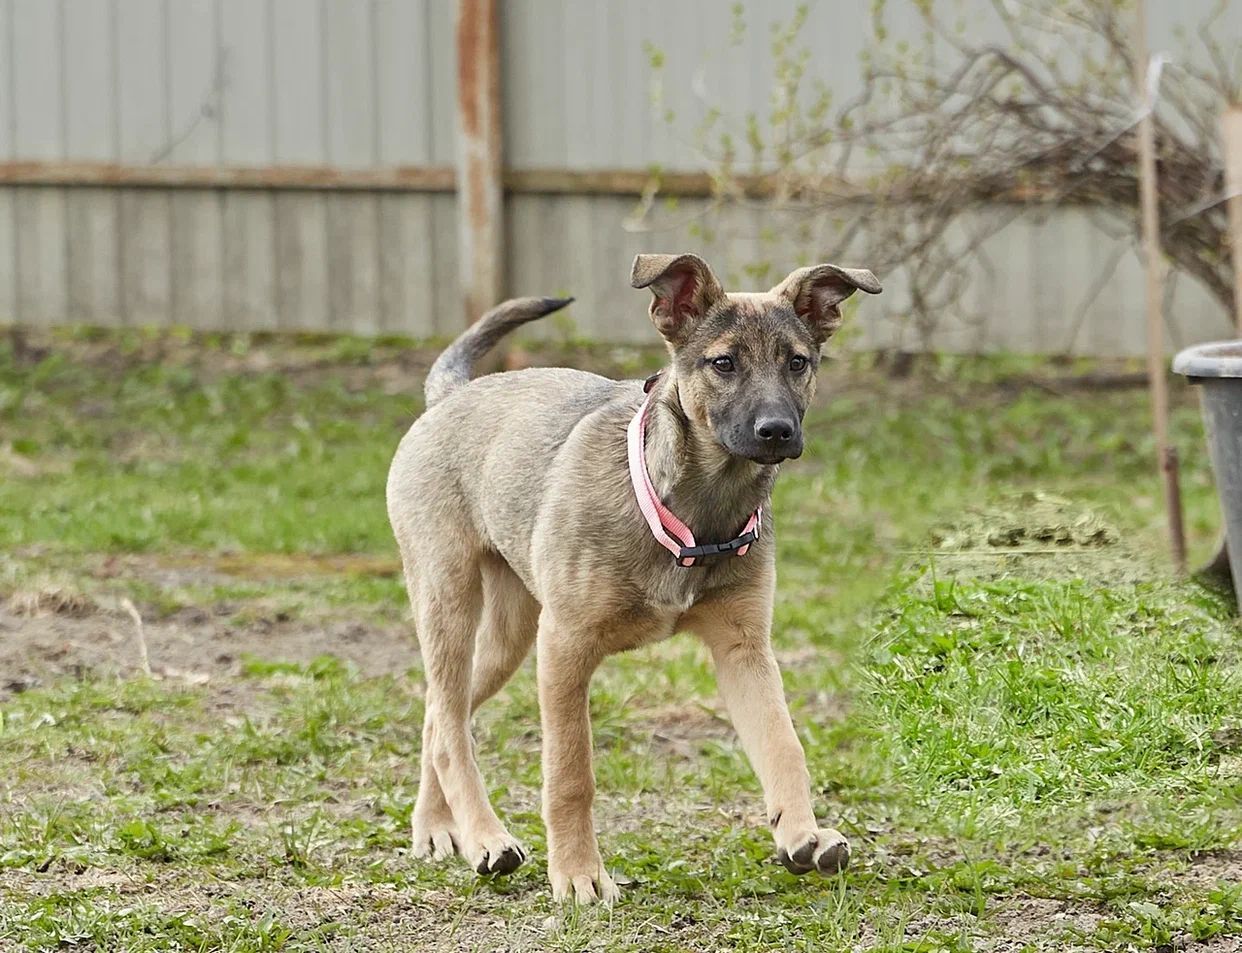
[[[672,374],[662,374],[655,386],[646,450],[656,492],[699,543],[732,539],[768,503],[780,467],[720,446],[705,424],[686,414]]]

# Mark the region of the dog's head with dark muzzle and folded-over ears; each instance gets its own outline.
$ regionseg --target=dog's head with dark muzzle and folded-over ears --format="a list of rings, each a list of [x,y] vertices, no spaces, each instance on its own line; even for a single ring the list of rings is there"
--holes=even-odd
[[[866,268],[812,265],[771,291],[727,293],[696,255],[640,255],[630,281],[651,288],[651,321],[691,422],[759,463],[801,455],[820,348],[841,327],[841,302],[881,291]]]

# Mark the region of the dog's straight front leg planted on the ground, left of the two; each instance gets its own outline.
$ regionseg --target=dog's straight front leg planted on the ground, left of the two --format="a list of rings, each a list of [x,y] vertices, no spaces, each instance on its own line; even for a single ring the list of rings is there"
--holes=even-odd
[[[591,673],[604,652],[590,632],[539,618],[539,713],[543,723],[543,815],[548,829],[548,878],[555,900],[580,903],[619,896],[604,870],[591,803]]]

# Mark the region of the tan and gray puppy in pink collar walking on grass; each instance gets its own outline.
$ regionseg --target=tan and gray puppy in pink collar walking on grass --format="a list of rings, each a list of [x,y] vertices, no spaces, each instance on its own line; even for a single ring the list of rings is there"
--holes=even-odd
[[[461,854],[483,875],[525,860],[488,801],[471,714],[537,645],[553,896],[614,902],[591,818],[591,673],[687,631],[712,654],[777,859],[836,873],[850,847],[815,818],[770,644],[768,501],[780,463],[802,452],[841,302],[879,282],[816,265],[725,293],[694,255],[638,255],[631,285],[652,292],[669,352],[646,385],[568,368],[472,380],[502,337],[571,299],[507,301],[435,362],[427,409],[392,460],[388,512],[427,678],[414,855]]]

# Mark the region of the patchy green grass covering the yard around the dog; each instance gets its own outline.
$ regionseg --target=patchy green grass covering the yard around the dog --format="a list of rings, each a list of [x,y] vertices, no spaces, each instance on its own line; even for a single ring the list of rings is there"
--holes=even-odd
[[[592,686],[601,844],[632,881],[612,911],[549,900],[529,665],[476,734],[533,861],[496,882],[415,862],[416,666],[365,675],[328,641],[282,657],[255,624],[404,616],[383,487],[419,408],[405,355],[135,334],[24,362],[0,348],[0,595],[81,595],[67,631],[127,596],[152,621],[205,609],[238,639],[204,685],[66,666],[0,702],[0,947],[1126,951],[1242,934],[1237,625],[1166,568],[1141,394],[1052,395],[1013,381],[1063,369],[1012,359],[903,381],[826,368],[807,454],[781,476],[775,642],[817,809],[853,841],[845,876],[773,862],[688,639],[612,659]],[[648,362],[622,357],[627,373]],[[1206,554],[1201,427],[1175,394]],[[933,542],[981,507],[1028,516],[1020,491],[1090,508],[1120,543]]]

